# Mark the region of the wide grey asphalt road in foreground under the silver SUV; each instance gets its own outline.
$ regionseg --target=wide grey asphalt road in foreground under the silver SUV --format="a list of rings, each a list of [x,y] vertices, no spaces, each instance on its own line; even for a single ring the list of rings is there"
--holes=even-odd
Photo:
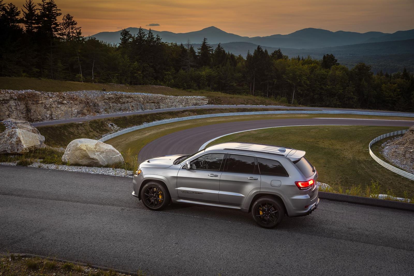
[[[0,166],[0,251],[151,275],[412,275],[414,213],[321,200],[277,229],[238,211],[149,211],[131,179]]]

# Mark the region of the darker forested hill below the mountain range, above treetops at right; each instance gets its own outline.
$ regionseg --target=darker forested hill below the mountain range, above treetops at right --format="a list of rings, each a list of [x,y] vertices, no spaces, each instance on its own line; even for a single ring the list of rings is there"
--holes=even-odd
[[[193,44],[198,48],[200,44]],[[247,51],[253,54],[257,48],[257,44],[249,42],[230,42],[221,43],[224,50],[229,51],[235,55],[243,55],[246,57]],[[212,44],[212,47],[217,47],[217,44]],[[262,46],[263,50],[267,49],[272,53],[278,48]],[[310,55],[313,58],[322,59],[323,55],[332,53],[342,65],[353,67],[358,62],[365,62],[372,66],[373,72],[383,70],[383,72],[394,73],[402,72],[404,67],[409,72],[414,72],[414,39],[402,41],[385,41],[375,43],[361,43],[354,45],[314,48],[314,49],[293,49],[280,48],[284,55],[289,57],[307,57]]]

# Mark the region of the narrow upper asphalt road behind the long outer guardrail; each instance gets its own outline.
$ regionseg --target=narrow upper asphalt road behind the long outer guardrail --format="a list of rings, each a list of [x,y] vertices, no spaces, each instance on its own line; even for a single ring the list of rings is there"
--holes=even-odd
[[[296,107],[296,106],[195,106],[195,107],[183,107],[183,108],[165,108],[165,109],[155,109],[155,110],[144,110],[144,111],[135,111],[135,112],[127,112],[127,113],[119,113],[119,114],[105,114],[105,115],[96,115],[96,116],[82,117],[82,118],[54,120],[54,121],[48,121],[48,122],[35,122],[35,123],[32,123],[32,125],[34,127],[42,127],[46,125],[60,125],[60,124],[68,123],[68,122],[85,122],[85,121],[104,119],[104,118],[123,117],[123,116],[130,116],[130,115],[159,113],[159,112],[167,112],[167,111],[180,111],[180,110],[188,110],[188,109],[204,109],[204,108],[277,108],[277,109],[301,109],[301,110],[364,111],[364,112],[381,112],[385,114],[388,114],[388,113],[407,114],[405,112],[393,112],[393,111],[346,109],[346,108],[315,108],[315,107]]]

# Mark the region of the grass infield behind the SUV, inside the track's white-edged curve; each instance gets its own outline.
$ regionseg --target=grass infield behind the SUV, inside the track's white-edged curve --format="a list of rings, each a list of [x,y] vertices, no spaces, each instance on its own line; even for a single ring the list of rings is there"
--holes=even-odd
[[[373,138],[402,129],[404,127],[280,127],[228,135],[210,145],[242,141],[301,149],[317,168],[318,181],[341,187],[342,193],[362,195],[373,181],[378,182],[381,193],[402,197],[405,191],[412,197],[413,182],[387,170],[368,153],[368,143]]]

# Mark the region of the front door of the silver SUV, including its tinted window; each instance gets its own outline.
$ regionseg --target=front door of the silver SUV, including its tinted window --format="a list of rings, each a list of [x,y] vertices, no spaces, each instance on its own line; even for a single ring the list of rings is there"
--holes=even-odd
[[[190,169],[185,166],[177,175],[178,197],[193,201],[219,203],[219,183],[222,153],[204,154],[190,161]]]

